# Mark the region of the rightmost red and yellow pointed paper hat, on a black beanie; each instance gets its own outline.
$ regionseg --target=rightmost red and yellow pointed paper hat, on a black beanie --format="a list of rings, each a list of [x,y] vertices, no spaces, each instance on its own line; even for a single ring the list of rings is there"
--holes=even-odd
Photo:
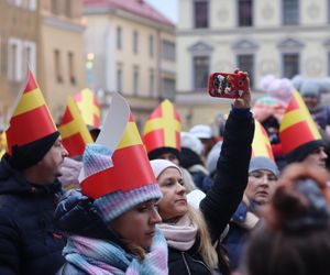
[[[310,153],[309,150],[316,148],[314,144],[319,146],[321,142],[317,125],[298,91],[294,91],[282,119],[279,139],[284,154],[295,155],[296,160],[293,161],[301,161],[304,155]],[[304,148],[304,152],[298,152],[300,148]]]

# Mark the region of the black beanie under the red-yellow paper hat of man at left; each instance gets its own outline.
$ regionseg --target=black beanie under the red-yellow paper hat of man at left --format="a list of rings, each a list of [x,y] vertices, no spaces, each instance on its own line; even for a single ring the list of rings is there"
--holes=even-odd
[[[8,162],[18,170],[31,167],[43,160],[58,136],[59,132],[56,131],[25,145],[14,145],[12,146],[12,154],[9,156]]]

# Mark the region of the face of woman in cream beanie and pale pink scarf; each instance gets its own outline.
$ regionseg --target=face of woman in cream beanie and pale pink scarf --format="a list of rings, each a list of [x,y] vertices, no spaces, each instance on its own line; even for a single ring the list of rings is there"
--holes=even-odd
[[[186,188],[177,168],[166,168],[157,178],[163,193],[160,215],[164,221],[184,216],[188,211]]]

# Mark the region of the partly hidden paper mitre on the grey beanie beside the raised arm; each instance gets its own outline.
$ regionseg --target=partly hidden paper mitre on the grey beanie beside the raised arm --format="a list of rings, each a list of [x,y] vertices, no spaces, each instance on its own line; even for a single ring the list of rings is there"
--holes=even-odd
[[[254,138],[252,142],[252,157],[264,156],[275,162],[272,145],[266,130],[256,119],[254,120],[254,123],[255,128]]]

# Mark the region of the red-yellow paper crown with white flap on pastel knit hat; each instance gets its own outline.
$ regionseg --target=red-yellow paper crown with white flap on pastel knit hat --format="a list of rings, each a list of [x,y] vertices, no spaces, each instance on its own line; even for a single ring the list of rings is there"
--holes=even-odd
[[[95,199],[116,191],[129,191],[156,184],[129,106],[125,100],[117,94],[113,94],[111,106],[118,108],[118,111],[114,113],[111,113],[111,110],[109,111],[96,143],[105,144],[112,150],[113,146],[116,147],[112,155],[113,166],[95,173],[80,183],[82,193]],[[130,114],[128,113],[127,119],[123,119],[125,118],[125,108],[128,108]],[[123,121],[124,128],[122,128],[124,131],[118,130],[122,127],[121,124],[123,124],[119,122],[119,119],[125,120]],[[111,123],[112,125],[110,125]],[[112,129],[112,127],[117,129]],[[112,140],[116,140],[118,135],[120,142],[114,144],[116,142],[111,142],[110,139],[107,139],[108,134],[111,135]]]

